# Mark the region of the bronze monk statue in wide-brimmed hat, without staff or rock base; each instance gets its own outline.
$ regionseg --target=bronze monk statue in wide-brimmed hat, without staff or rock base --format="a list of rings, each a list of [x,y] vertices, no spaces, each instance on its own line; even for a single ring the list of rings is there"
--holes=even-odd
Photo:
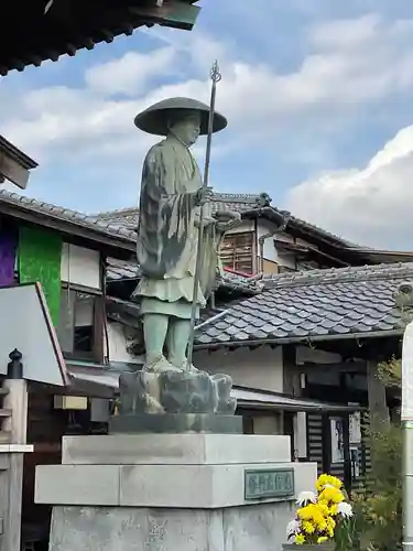
[[[135,117],[138,128],[165,137],[144,160],[139,206],[137,253],[141,280],[133,295],[141,301],[149,371],[194,369],[187,366],[186,349],[200,207],[204,217],[196,317],[206,305],[220,269],[222,236],[240,219],[237,213],[227,218],[224,213],[211,215],[211,188],[203,186],[199,168],[189,151],[198,136],[207,133],[208,116],[206,105],[173,98]],[[226,119],[216,112],[213,131],[226,126]]]

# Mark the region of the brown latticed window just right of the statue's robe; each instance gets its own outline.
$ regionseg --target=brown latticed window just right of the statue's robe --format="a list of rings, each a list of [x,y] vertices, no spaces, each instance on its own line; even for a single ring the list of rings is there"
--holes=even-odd
[[[252,273],[253,238],[253,231],[226,235],[220,250],[222,264],[231,270]]]

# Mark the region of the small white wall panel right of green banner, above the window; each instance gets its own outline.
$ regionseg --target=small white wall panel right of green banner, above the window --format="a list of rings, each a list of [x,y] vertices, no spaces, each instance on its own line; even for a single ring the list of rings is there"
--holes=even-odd
[[[63,244],[61,278],[64,282],[101,289],[100,253],[93,249]]]

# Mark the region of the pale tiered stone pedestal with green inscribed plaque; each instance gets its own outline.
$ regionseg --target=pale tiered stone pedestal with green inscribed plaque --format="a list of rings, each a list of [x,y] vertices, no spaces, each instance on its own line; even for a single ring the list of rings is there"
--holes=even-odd
[[[289,436],[67,436],[41,465],[53,505],[50,551],[281,551],[316,464],[291,463]]]

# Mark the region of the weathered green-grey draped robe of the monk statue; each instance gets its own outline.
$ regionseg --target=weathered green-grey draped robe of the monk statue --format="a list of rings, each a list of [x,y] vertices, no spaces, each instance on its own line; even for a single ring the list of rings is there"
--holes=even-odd
[[[191,317],[198,249],[202,187],[199,168],[189,149],[173,136],[154,145],[143,163],[137,255],[141,281],[134,296],[141,311]],[[204,205],[210,220],[210,204]],[[206,224],[202,236],[202,269],[196,302],[205,306],[219,267],[222,234]]]

